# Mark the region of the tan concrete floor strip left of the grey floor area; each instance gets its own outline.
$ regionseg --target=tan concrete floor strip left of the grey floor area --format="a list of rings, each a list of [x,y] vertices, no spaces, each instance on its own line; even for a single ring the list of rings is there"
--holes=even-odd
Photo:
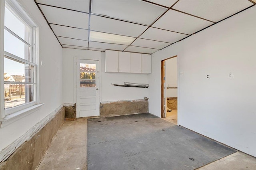
[[[37,170],[86,170],[86,135],[86,118],[65,121]]]

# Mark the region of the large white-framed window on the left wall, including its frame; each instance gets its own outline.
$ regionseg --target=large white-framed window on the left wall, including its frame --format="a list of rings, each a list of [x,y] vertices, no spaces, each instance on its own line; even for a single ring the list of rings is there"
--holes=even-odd
[[[1,18],[2,19],[2,18]],[[36,25],[16,1],[4,7],[5,115],[38,103]]]

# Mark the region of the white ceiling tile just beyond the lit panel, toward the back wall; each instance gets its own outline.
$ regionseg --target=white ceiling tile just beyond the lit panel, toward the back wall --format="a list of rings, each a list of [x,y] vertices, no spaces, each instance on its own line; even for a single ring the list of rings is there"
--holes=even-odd
[[[123,51],[128,45],[112,44],[112,43],[100,43],[100,42],[89,42],[90,48],[100,48],[100,49],[114,49],[118,51]]]

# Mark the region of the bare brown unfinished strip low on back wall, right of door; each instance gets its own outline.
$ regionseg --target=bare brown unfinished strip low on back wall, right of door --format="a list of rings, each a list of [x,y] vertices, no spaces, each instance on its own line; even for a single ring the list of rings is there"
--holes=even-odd
[[[100,117],[148,113],[148,100],[100,103]]]

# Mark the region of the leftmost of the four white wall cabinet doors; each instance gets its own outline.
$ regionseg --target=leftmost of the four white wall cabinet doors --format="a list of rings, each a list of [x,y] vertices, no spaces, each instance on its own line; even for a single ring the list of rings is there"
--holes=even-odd
[[[105,51],[105,72],[118,72],[118,51]]]

